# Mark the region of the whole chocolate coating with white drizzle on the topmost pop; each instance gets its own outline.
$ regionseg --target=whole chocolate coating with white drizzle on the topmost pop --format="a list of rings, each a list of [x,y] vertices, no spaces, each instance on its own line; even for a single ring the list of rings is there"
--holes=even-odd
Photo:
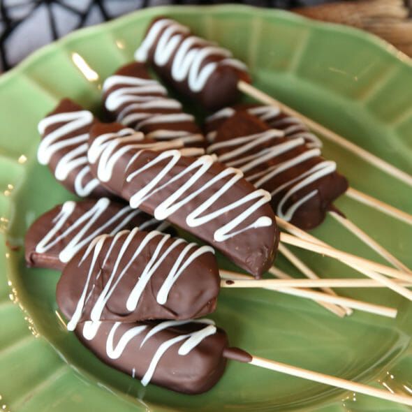
[[[246,66],[232,59],[228,50],[193,36],[187,27],[165,17],[149,25],[135,58],[152,64],[165,82],[207,110],[234,103],[239,80],[251,81]],[[198,81],[208,71],[207,80]]]

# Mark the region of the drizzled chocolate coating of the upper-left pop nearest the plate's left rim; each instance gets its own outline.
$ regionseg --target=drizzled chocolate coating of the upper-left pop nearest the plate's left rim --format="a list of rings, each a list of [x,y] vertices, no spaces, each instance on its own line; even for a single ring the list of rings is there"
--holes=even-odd
[[[80,197],[112,196],[110,191],[94,179],[87,164],[87,135],[92,124],[96,122],[93,115],[77,103],[64,98],[42,122],[47,124],[41,130],[43,141],[38,147],[38,159],[44,158],[41,162],[47,163],[59,183]],[[70,126],[70,130],[65,132],[64,128]],[[59,133],[59,137],[47,142],[50,136],[56,133]],[[48,156],[47,152],[50,152],[51,156]],[[59,176],[62,172],[63,175]]]

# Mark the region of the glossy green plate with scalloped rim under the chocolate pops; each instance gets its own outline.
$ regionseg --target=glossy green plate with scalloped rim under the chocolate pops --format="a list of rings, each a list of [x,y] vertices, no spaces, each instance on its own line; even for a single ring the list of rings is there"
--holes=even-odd
[[[132,59],[147,24],[159,14],[229,47],[247,61],[257,87],[412,173],[411,61],[360,31],[244,6],[151,8],[45,47],[0,77],[0,410],[409,410],[235,362],[204,395],[142,388],[64,330],[54,300],[59,274],[24,266],[30,223],[73,198],[36,162],[36,124],[64,96],[98,110],[103,80]],[[338,161],[353,187],[412,212],[410,187],[328,142],[324,152]],[[345,196],[337,206],[412,267],[411,226]],[[331,218],[314,234],[381,261]],[[359,277],[332,260],[299,254],[323,277]],[[286,261],[277,262],[295,274]],[[297,297],[223,290],[213,318],[226,328],[231,344],[256,355],[411,394],[411,302],[383,289],[339,293],[397,307],[399,316],[356,312],[339,319]]]

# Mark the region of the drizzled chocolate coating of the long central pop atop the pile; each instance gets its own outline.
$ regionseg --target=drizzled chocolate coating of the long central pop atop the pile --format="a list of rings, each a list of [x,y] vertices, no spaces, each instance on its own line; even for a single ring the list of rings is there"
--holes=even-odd
[[[91,142],[121,129],[117,124],[97,124],[91,129]],[[121,145],[122,136],[119,135],[117,141]],[[140,149],[122,149],[122,156],[115,157],[119,151],[110,148],[99,152],[98,145],[91,143],[91,149],[101,153],[93,162],[89,151],[91,170],[101,182],[104,179],[103,184],[110,190],[129,200],[132,207],[137,204],[145,212],[157,218],[162,216],[161,219],[193,233],[256,277],[272,265],[279,231],[272,208],[267,204],[268,193],[255,191],[237,170],[213,163],[210,156],[193,159],[180,156],[177,150],[159,154],[141,147],[140,144]],[[108,159],[116,159],[114,165],[109,164]],[[200,168],[200,165],[203,166]],[[186,189],[183,191],[182,187]],[[147,195],[136,200],[142,190],[148,190]],[[172,200],[179,190],[183,191],[182,195]],[[177,201],[179,207],[168,212]],[[169,206],[165,211],[166,203]],[[198,214],[201,208],[203,212]],[[193,214],[210,217],[203,223],[198,223],[200,217],[192,223],[189,218]],[[233,228],[226,230],[231,224]]]

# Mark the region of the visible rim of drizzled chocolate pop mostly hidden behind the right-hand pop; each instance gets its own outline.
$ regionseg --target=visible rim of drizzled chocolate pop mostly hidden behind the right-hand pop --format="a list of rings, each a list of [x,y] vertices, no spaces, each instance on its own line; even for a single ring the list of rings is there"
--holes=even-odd
[[[248,112],[249,115],[258,117],[258,119],[265,122],[267,126],[284,131],[286,138],[304,138],[308,147],[322,147],[321,140],[319,140],[314,133],[309,131],[309,128],[307,128],[302,120],[282,112],[279,108],[251,103],[243,103],[234,105],[230,108],[224,108],[207,118],[204,128],[209,142],[214,140],[216,130],[223,124],[223,122],[237,112]]]

